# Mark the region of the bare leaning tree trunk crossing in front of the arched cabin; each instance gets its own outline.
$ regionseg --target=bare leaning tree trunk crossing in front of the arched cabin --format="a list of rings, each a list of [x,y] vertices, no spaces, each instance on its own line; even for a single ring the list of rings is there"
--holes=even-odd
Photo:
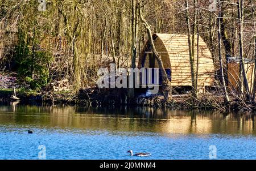
[[[151,45],[151,48],[152,48],[152,53],[153,53],[156,61],[158,62],[158,66],[159,66],[160,73],[162,75],[162,80],[163,80],[162,87],[163,87],[164,100],[167,100],[169,98],[169,94],[171,93],[170,82],[168,80],[166,70],[164,69],[162,58],[155,49],[154,40],[153,40],[153,37],[152,37],[152,32],[151,32],[151,29],[150,29],[150,25],[147,23],[147,20],[144,19],[143,15],[142,15],[141,3],[138,3],[138,12],[139,12],[139,18],[141,19],[142,23],[144,24],[145,28],[147,29],[147,35],[148,35],[148,39],[150,41],[150,45]]]

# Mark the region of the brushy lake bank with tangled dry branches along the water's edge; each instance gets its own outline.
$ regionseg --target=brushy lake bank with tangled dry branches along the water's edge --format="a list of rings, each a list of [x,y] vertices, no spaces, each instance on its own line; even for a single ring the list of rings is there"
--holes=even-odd
[[[1,102],[13,102],[10,97],[13,95],[13,89],[0,89]],[[113,91],[102,91],[100,89],[81,90],[75,94],[71,91],[63,92],[36,92],[23,91],[16,89],[16,95],[23,104],[31,103],[47,103],[51,105],[83,105],[83,106],[146,106],[152,108],[168,108],[173,110],[219,110],[220,112],[254,112],[256,104],[245,105],[243,101],[232,99],[225,102],[224,97],[214,96],[211,93],[199,95],[198,99],[194,99],[192,95],[174,95],[172,99],[165,101],[162,96],[155,97],[135,97],[128,100],[126,93],[121,89]]]

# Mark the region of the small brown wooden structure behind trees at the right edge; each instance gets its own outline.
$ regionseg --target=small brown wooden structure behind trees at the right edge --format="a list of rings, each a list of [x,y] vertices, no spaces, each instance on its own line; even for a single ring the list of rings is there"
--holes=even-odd
[[[240,78],[240,57],[232,57],[228,59],[228,87],[238,91],[240,88],[243,91]],[[253,88],[254,80],[254,61],[245,59],[245,71],[247,75],[248,86],[250,90]]]

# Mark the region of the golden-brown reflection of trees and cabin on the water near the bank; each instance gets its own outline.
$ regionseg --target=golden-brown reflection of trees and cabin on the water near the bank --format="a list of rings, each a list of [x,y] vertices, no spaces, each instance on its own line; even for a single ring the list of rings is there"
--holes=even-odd
[[[0,125],[73,127],[109,131],[144,131],[162,134],[251,134],[255,115],[208,110],[154,108],[82,108],[76,106],[2,105]]]

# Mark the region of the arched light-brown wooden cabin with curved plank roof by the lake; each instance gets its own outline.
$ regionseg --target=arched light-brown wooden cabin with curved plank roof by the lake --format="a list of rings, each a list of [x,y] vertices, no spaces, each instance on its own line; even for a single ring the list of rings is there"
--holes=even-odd
[[[197,37],[197,36],[196,36]],[[192,86],[191,65],[189,62],[188,36],[179,34],[153,35],[156,51],[161,55],[165,69],[170,69],[172,87]],[[195,42],[197,44],[197,41]],[[195,45],[195,70],[197,61],[197,45]],[[138,68],[159,68],[156,59],[152,55],[149,41],[144,46],[138,61]],[[204,40],[199,37],[199,67],[198,86],[213,86],[214,64],[210,50]]]

